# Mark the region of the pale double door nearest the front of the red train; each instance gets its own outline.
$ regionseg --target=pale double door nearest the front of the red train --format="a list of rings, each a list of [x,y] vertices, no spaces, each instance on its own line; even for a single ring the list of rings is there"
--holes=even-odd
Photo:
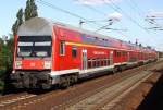
[[[82,70],[87,70],[87,50],[86,49],[83,49],[83,52],[82,52],[83,57],[82,57],[82,62],[83,62],[83,66],[82,66]]]

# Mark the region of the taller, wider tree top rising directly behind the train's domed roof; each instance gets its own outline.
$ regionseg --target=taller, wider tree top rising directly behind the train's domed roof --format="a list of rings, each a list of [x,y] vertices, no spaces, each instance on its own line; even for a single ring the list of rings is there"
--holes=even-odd
[[[38,16],[37,5],[35,4],[35,0],[27,0],[25,8],[25,21]]]

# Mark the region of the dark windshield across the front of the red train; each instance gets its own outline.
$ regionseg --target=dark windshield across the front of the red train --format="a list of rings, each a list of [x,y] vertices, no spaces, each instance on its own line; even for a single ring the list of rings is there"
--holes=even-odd
[[[50,58],[51,36],[18,36],[17,57],[18,58]]]

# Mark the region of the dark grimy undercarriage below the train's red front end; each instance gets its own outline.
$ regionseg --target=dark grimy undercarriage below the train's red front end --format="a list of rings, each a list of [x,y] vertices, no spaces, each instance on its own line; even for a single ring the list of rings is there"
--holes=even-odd
[[[51,88],[49,71],[16,71],[11,74],[11,83],[15,88]]]

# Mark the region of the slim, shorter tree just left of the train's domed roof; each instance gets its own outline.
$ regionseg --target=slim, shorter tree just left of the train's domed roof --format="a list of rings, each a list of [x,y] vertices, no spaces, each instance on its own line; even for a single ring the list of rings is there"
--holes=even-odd
[[[23,23],[23,9],[21,8],[16,14],[16,21],[12,26],[13,35],[17,34],[18,26]]]

